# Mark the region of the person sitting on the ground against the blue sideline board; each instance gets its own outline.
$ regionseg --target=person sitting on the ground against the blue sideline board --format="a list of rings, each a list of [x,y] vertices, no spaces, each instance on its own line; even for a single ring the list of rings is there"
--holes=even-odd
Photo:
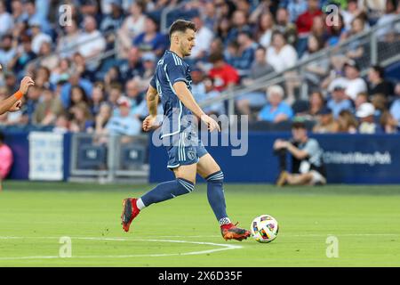
[[[277,186],[324,185],[326,183],[324,151],[316,139],[308,138],[304,123],[293,123],[292,139],[290,141],[276,140],[274,153],[278,156],[281,170],[276,181]],[[286,153],[292,155],[292,174],[286,170]]]

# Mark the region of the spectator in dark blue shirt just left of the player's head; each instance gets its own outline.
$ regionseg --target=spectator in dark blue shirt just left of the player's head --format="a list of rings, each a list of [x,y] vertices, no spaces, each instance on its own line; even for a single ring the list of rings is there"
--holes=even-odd
[[[157,56],[161,56],[167,48],[167,38],[158,32],[156,20],[148,17],[146,18],[144,32],[135,37],[133,45],[137,46],[141,52],[153,52]]]

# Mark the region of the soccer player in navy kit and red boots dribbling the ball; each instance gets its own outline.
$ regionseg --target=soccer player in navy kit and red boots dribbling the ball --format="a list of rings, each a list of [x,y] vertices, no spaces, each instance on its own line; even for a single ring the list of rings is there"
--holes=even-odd
[[[149,115],[143,121],[144,131],[159,126],[156,115],[157,103],[161,100],[164,120],[160,138],[172,142],[166,146],[167,167],[172,169],[176,179],[158,184],[139,199],[124,199],[121,220],[124,231],[128,232],[132,220],[143,208],[193,191],[198,173],[207,181],[207,198],[220,224],[222,237],[225,240],[244,240],[250,236],[250,232],[232,224],[226,211],[224,175],[199,140],[193,122],[184,119],[194,114],[208,126],[210,132],[220,131],[218,123],[205,115],[190,91],[190,70],[183,58],[190,55],[195,45],[195,33],[193,22],[176,20],[172,23],[169,33],[170,50],[157,63],[156,74],[147,92]]]

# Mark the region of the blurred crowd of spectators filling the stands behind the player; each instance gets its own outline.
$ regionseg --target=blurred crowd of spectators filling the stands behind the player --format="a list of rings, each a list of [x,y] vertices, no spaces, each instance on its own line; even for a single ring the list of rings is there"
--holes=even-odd
[[[178,18],[196,23],[196,46],[185,61],[191,65],[192,93],[203,102],[395,20],[398,2],[0,1],[0,99],[13,94],[25,75],[36,82],[22,110],[1,116],[0,126],[140,134],[141,120],[148,115],[145,93],[156,62],[169,47],[168,31],[161,26],[165,9],[171,10],[166,26]],[[340,7],[340,15],[328,25],[325,11],[332,3]],[[398,27],[379,30],[381,40],[398,35]],[[396,133],[400,83],[388,80],[379,65],[361,77],[358,60],[364,53],[364,45],[354,41],[340,59],[311,61],[303,75],[308,102],[299,100],[296,80],[288,79],[284,85],[241,94],[236,112],[254,121],[315,120],[316,133]],[[291,72],[284,76],[296,77]],[[226,114],[227,106],[218,102],[204,110]]]

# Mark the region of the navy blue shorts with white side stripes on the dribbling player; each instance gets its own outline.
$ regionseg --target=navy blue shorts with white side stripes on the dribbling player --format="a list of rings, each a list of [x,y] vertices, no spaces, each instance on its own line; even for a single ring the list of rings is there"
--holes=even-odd
[[[168,152],[168,168],[188,166],[197,163],[207,154],[204,143],[196,133],[181,132],[172,136],[172,145],[166,146]]]

